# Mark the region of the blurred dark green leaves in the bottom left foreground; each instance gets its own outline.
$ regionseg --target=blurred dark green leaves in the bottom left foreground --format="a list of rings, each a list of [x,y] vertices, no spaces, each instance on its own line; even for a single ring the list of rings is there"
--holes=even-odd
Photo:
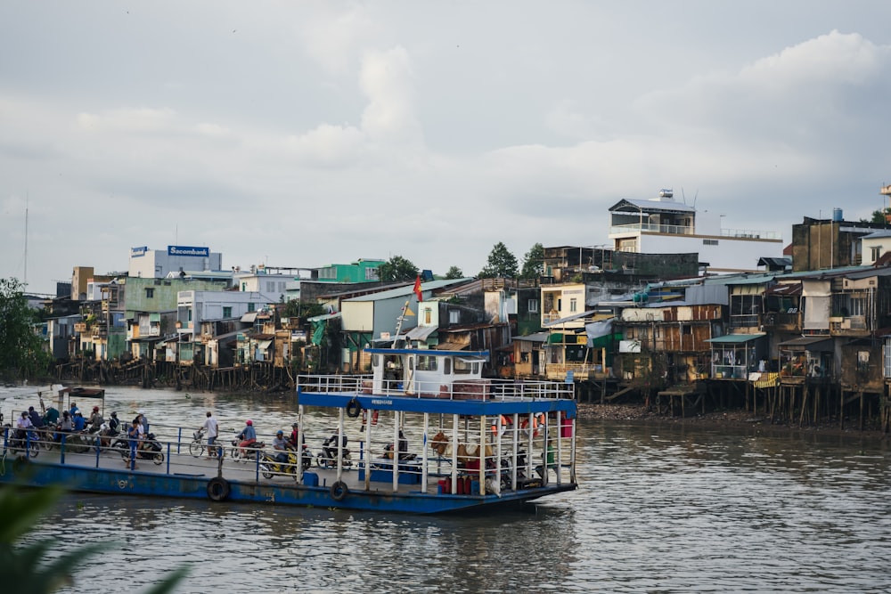
[[[45,539],[30,544],[16,543],[37,525],[62,495],[61,488],[46,487],[23,491],[15,485],[0,487],[0,575],[16,594],[47,594],[71,585],[73,574],[91,557],[111,546],[110,542],[89,544],[46,558],[56,541]],[[188,571],[182,566],[168,574],[146,594],[167,594]]]

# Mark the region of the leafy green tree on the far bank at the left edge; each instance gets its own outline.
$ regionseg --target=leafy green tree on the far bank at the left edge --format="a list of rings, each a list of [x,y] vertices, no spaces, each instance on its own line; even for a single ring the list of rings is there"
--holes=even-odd
[[[18,279],[0,279],[0,375],[35,378],[46,374],[50,355],[31,324],[37,318]]]

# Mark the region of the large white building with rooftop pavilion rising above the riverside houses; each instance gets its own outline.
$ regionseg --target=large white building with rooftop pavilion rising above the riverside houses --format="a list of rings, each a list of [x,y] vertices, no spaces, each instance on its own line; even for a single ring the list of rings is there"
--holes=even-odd
[[[723,229],[722,216],[674,200],[623,199],[609,208],[609,240],[616,251],[699,254],[708,273],[754,273],[762,257],[782,257],[779,232]]]

